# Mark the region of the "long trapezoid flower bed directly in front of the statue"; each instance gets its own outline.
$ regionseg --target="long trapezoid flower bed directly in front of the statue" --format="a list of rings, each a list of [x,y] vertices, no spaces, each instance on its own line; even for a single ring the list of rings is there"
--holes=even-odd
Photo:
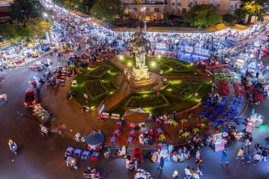
[[[168,100],[163,96],[132,96],[126,103],[125,108],[154,109],[168,106]]]

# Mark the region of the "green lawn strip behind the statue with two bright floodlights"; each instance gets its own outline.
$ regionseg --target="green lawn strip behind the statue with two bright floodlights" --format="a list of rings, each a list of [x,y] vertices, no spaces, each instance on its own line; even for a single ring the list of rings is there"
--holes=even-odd
[[[133,67],[135,64],[135,58],[133,57],[124,57],[119,59],[126,64],[127,67]],[[168,58],[159,58],[159,57],[147,57],[146,59],[147,67],[149,70],[159,73],[161,70],[164,71],[164,74],[167,76],[178,76],[178,75],[193,75],[198,73],[197,69],[193,64],[188,64],[186,62],[179,61],[177,59],[168,59]],[[171,64],[178,64],[173,67]],[[176,67],[181,66],[184,69],[177,70]]]

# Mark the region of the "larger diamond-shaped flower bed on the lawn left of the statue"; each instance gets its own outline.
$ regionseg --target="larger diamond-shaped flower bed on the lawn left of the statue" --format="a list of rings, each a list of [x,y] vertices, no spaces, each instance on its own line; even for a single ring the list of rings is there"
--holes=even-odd
[[[108,90],[103,86],[103,83],[100,80],[91,80],[85,82],[86,91],[88,96],[95,100],[105,93],[108,93]]]

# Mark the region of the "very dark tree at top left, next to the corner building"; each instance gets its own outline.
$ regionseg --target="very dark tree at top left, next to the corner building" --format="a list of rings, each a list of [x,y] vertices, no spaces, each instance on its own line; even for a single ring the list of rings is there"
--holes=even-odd
[[[16,0],[12,5],[11,18],[13,21],[25,23],[28,18],[40,17],[43,8],[39,1],[35,0]]]

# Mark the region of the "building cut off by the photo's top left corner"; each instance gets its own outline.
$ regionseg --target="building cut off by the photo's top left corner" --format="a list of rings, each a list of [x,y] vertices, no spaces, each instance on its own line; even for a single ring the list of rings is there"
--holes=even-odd
[[[11,4],[13,0],[0,0],[0,23],[11,21]]]

